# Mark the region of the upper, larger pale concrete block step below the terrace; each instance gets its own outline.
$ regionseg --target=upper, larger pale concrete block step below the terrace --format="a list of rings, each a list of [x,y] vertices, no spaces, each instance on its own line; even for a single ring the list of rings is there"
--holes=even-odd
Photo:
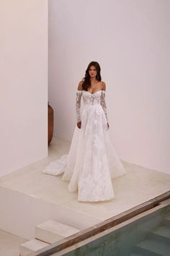
[[[35,238],[53,244],[79,231],[79,229],[75,229],[72,226],[49,220],[35,227]]]

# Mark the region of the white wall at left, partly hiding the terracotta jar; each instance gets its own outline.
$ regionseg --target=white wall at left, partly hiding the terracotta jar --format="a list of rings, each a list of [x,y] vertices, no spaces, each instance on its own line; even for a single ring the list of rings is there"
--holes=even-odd
[[[47,155],[48,1],[0,7],[0,176]]]

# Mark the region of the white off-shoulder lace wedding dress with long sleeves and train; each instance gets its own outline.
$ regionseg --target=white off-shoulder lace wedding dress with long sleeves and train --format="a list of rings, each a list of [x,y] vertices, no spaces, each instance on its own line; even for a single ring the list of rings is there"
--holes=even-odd
[[[79,201],[110,200],[115,197],[112,178],[125,174],[125,168],[109,138],[105,91],[77,90],[76,117],[81,129],[76,126],[68,155],[50,163],[43,173],[63,173],[62,179],[69,182],[68,190],[78,190]]]

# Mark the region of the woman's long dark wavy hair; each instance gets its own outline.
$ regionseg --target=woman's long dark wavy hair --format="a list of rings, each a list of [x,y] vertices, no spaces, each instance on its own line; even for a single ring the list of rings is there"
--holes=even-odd
[[[99,67],[99,63],[97,61],[91,61],[86,69],[86,73],[85,73],[85,77],[83,79],[83,84],[82,84],[82,88],[83,90],[88,90],[89,87],[91,87],[91,80],[90,80],[90,75],[89,75],[89,69],[91,66],[94,66],[96,69],[97,69],[97,80],[98,81],[101,81],[102,80],[102,77],[101,77],[101,74],[100,74],[100,67]]]

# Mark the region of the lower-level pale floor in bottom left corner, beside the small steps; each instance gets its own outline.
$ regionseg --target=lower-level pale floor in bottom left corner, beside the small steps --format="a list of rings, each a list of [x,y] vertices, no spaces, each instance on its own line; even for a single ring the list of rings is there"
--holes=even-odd
[[[0,255],[19,256],[19,244],[27,240],[0,230]]]

